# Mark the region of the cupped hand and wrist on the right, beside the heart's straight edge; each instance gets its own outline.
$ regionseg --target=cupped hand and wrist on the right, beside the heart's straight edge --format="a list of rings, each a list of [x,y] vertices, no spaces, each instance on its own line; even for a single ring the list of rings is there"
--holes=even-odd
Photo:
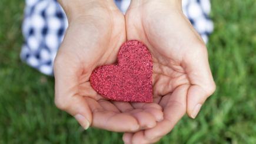
[[[187,111],[195,118],[201,105],[215,91],[204,41],[185,15],[181,1],[132,0],[125,14],[127,41],[147,45],[153,59],[153,102],[164,120],[152,129],[125,133],[129,143],[155,143]]]

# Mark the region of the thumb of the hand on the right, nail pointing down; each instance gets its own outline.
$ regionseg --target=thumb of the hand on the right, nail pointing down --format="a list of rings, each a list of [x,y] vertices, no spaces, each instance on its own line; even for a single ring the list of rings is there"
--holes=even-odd
[[[188,53],[189,56],[184,56],[182,63],[192,85],[188,90],[187,113],[191,118],[195,118],[205,100],[214,93],[216,86],[205,45],[197,45]]]

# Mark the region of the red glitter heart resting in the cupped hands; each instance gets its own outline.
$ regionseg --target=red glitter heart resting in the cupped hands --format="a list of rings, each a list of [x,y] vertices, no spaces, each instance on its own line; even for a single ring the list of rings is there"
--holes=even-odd
[[[92,71],[91,85],[108,99],[124,102],[152,102],[153,62],[147,47],[139,41],[125,42],[117,65],[102,65]]]

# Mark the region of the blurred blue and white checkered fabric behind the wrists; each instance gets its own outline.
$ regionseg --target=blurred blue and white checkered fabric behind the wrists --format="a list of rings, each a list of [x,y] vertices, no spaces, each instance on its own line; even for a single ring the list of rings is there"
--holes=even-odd
[[[125,14],[131,0],[115,0],[115,4]],[[213,31],[213,23],[208,19],[211,11],[210,0],[182,0],[182,9],[197,29],[205,43]],[[26,0],[22,32],[24,45],[21,59],[45,75],[53,75],[53,62],[61,44],[68,19],[56,0]]]

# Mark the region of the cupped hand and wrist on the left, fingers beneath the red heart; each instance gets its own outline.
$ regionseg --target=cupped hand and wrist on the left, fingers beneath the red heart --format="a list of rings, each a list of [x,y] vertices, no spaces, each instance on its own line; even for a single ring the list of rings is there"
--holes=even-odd
[[[156,103],[109,101],[91,86],[91,72],[99,65],[117,63],[127,41],[124,15],[114,1],[59,1],[69,26],[54,62],[55,103],[89,126],[115,132],[135,132],[163,119]]]

